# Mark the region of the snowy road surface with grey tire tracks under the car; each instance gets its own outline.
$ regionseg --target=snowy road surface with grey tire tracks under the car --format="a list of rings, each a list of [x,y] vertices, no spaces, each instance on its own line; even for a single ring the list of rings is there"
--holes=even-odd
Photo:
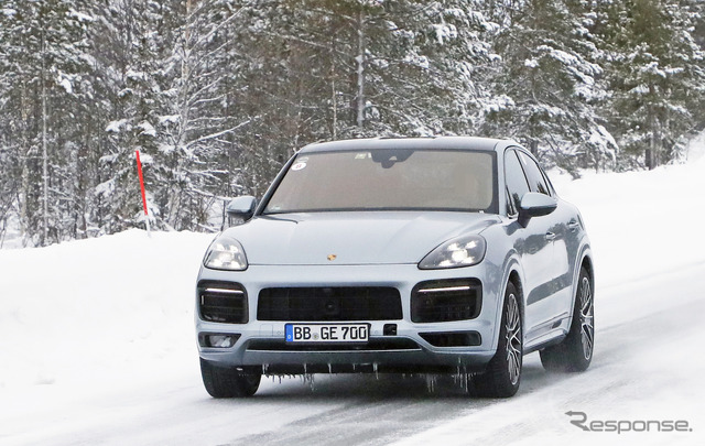
[[[668,272],[634,286],[603,290],[599,312],[629,296],[634,306],[661,305],[604,320],[588,372],[547,374],[527,357],[517,396],[473,400],[452,379],[433,392],[423,378],[318,376],[265,381],[253,399],[216,401],[202,389],[197,367],[121,390],[39,385],[4,399],[2,444],[566,444],[596,440],[698,444],[704,435],[704,358],[688,355],[705,339],[705,264]],[[630,312],[631,313],[631,312]],[[7,396],[7,395],[6,395]],[[567,411],[590,420],[686,420],[694,432],[592,433],[568,423]],[[699,432],[698,432],[699,431]]]

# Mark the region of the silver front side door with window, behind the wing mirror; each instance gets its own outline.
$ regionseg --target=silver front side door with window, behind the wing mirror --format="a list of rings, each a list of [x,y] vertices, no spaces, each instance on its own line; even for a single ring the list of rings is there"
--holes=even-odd
[[[505,178],[508,194],[507,214],[513,228],[514,250],[521,259],[524,272],[524,333],[531,339],[545,333],[550,326],[553,309],[550,303],[551,284],[555,276],[553,266],[553,219],[549,216],[534,217],[527,227],[522,227],[516,218],[519,215],[521,197],[531,191],[524,167],[517,150],[505,153]],[[550,329],[550,328],[549,328]]]

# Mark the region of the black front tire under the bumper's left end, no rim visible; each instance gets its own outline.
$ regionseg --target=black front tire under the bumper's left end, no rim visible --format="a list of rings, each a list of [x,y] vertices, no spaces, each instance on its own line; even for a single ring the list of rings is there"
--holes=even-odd
[[[200,377],[213,398],[246,398],[257,392],[262,373],[257,368],[215,366],[200,358]]]

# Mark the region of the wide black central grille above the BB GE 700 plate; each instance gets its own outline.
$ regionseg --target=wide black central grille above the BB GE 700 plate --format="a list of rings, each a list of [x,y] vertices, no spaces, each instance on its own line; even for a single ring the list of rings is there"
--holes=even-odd
[[[401,296],[393,287],[294,287],[260,291],[259,320],[395,320]]]

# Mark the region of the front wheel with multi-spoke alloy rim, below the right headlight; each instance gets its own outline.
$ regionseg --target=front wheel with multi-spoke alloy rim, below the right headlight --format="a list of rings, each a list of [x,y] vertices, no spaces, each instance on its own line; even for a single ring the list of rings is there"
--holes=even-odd
[[[507,284],[497,352],[482,374],[474,376],[468,390],[474,396],[509,398],[519,390],[523,356],[523,322],[520,297],[513,283]]]

